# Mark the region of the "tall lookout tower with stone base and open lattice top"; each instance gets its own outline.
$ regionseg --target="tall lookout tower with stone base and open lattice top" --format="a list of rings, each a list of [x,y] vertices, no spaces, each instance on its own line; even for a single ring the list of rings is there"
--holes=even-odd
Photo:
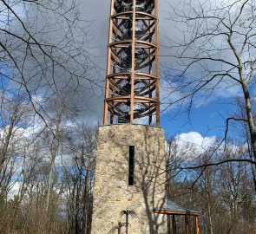
[[[166,234],[157,0],[111,0],[92,234]],[[128,222],[121,211],[133,211]],[[127,227],[128,224],[128,227]],[[121,232],[118,232],[121,231]]]

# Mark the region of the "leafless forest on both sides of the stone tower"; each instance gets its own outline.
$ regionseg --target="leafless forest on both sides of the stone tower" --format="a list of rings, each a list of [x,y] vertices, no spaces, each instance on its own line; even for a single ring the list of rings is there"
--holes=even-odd
[[[102,86],[75,2],[0,0],[1,234],[90,233],[97,127],[76,117]],[[189,116],[198,95],[242,95],[211,145],[167,140],[167,197],[200,211],[200,233],[256,233],[256,3],[185,2],[170,6],[186,36],[167,39],[163,71],[168,95],[182,95],[165,107]]]

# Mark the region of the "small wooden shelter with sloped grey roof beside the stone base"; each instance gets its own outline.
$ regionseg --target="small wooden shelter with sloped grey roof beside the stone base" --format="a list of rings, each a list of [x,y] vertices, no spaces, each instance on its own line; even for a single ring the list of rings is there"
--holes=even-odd
[[[190,210],[182,205],[178,205],[173,201],[167,199],[167,205],[162,207],[161,209],[154,209],[154,213],[167,214],[168,216],[172,216],[172,234],[177,234],[177,224],[176,217],[183,216],[184,217],[184,234],[199,234],[199,212]],[[188,217],[194,218],[194,232],[189,233],[188,231]],[[169,225],[169,224],[168,224]],[[170,227],[168,227],[170,228]]]

